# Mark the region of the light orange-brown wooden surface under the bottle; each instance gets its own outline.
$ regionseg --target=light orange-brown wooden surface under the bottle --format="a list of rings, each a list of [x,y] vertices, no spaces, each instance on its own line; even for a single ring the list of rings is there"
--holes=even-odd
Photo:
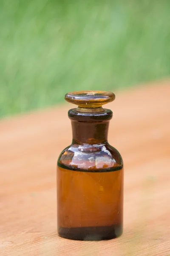
[[[56,163],[71,143],[70,104],[0,122],[0,255],[170,255],[170,83],[116,93],[109,142],[125,164],[124,233],[57,235]]]

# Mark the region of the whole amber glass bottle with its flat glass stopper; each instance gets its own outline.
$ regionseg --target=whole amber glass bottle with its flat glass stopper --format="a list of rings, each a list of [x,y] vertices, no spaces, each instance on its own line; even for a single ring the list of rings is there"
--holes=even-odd
[[[78,108],[68,111],[73,140],[57,162],[59,236],[76,240],[113,239],[122,234],[123,161],[108,143],[112,111],[102,105],[111,92],[77,91],[65,95]]]

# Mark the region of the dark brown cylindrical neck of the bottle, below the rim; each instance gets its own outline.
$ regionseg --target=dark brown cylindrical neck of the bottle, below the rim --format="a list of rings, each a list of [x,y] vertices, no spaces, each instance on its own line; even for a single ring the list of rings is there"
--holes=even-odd
[[[105,143],[108,140],[109,121],[81,122],[71,120],[73,144]]]

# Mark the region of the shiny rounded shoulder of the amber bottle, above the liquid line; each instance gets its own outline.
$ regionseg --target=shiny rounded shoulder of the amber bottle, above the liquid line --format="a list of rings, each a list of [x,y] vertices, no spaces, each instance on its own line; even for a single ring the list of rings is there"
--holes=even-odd
[[[112,169],[122,168],[123,161],[116,148],[108,143],[95,145],[70,145],[59,155],[58,165],[70,169]]]

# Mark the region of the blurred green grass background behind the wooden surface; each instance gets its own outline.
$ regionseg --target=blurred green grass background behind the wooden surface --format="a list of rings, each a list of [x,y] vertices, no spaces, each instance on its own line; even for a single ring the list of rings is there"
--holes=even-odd
[[[0,116],[170,75],[169,0],[0,1]]]

